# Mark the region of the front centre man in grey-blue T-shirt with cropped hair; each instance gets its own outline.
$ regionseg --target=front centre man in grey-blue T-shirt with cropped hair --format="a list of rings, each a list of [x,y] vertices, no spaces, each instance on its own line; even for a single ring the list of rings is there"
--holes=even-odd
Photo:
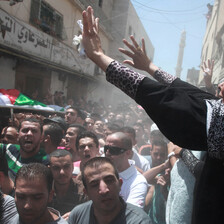
[[[110,224],[150,224],[146,213],[119,196],[122,180],[112,161],[105,157],[95,157],[82,167],[85,192],[91,201],[75,207],[69,224],[110,223]]]

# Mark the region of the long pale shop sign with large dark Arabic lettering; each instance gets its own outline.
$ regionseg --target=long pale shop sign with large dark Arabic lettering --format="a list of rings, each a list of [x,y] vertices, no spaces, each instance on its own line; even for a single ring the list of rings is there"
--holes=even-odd
[[[53,44],[57,42],[56,44]],[[42,31],[26,24],[0,9],[0,44],[74,68],[75,52]]]

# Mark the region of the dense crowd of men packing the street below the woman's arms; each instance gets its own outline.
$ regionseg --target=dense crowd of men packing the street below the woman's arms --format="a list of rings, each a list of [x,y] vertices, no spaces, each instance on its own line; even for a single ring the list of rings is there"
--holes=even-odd
[[[167,142],[142,108],[126,107],[15,114],[1,132],[2,222],[154,223],[144,174],[165,162]]]

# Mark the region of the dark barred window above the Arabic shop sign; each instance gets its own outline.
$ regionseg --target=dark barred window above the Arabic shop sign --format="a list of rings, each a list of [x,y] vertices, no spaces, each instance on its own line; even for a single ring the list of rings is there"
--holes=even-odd
[[[30,23],[59,39],[63,35],[63,16],[43,0],[32,0]]]

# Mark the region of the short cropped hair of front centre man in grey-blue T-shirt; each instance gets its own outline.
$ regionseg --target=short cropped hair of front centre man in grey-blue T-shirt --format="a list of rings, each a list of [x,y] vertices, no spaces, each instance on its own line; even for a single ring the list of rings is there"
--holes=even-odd
[[[118,174],[117,168],[115,167],[115,165],[111,159],[109,159],[107,157],[94,157],[94,158],[88,160],[81,168],[82,182],[86,189],[87,189],[87,184],[86,184],[86,176],[84,173],[85,170],[87,168],[95,168],[96,169],[105,163],[109,163],[114,168],[114,174],[115,174],[116,178],[119,180],[119,174]]]

